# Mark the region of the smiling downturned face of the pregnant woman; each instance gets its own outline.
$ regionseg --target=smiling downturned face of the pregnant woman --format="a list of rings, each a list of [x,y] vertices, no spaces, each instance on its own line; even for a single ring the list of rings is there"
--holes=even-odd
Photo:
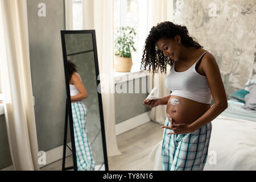
[[[160,38],[158,42],[156,42],[156,46],[160,51],[163,52],[165,57],[170,57],[170,59],[177,61],[180,57],[180,46],[179,42],[181,42],[180,37],[176,36],[174,40]]]

